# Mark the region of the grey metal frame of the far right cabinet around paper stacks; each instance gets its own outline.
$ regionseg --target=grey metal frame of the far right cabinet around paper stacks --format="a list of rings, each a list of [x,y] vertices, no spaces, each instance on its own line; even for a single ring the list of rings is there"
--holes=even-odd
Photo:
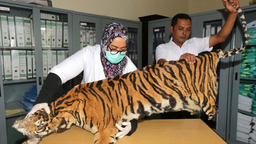
[[[247,24],[252,22],[252,21],[256,21],[256,6],[255,5],[251,5],[251,6],[244,6],[242,7],[242,10],[244,11],[245,14],[245,18],[247,21]],[[248,26],[248,25],[247,25]],[[234,45],[232,46],[233,48],[240,48],[242,46],[243,43],[243,37],[244,37],[244,33],[242,30],[242,23],[241,20],[238,18],[238,20],[236,21],[236,30],[235,30],[235,37],[234,37]],[[254,32],[255,34],[255,32]],[[252,35],[252,34],[251,34]],[[250,50],[252,47],[255,47],[256,43],[254,42],[250,42],[248,44],[248,46],[246,46],[246,50]],[[237,54],[234,56],[234,64],[233,64],[233,70],[232,70],[232,83],[231,83],[231,87],[232,87],[232,94],[231,94],[231,107],[230,107],[230,111],[229,114],[230,115],[230,119],[228,121],[230,121],[229,125],[230,125],[230,129],[227,132],[229,139],[228,139],[228,143],[229,144],[246,144],[248,142],[243,142],[241,139],[237,139],[237,131],[238,130],[238,112],[247,116],[252,116],[252,117],[256,117],[256,114],[253,114],[252,112],[247,112],[244,110],[241,110],[241,108],[238,107],[238,95],[241,94],[240,93],[240,84],[243,83],[251,83],[251,84],[256,84],[256,78],[253,78],[252,75],[249,75],[249,77],[244,77],[241,76],[241,74],[243,74],[242,72],[242,65],[245,64],[244,61],[242,61],[242,55],[241,54]],[[255,62],[255,60],[254,60]],[[252,78],[250,78],[250,76],[252,76]],[[253,93],[253,91],[252,91]],[[255,92],[254,92],[255,94]],[[250,132],[251,133],[251,132]],[[246,139],[246,138],[245,138]]]

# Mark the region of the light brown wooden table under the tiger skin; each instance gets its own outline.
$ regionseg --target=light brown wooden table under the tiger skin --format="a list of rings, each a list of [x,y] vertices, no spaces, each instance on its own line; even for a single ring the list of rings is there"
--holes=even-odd
[[[26,144],[24,142],[23,144]],[[40,144],[93,144],[93,134],[72,126],[52,133]],[[124,136],[117,144],[226,144],[201,119],[139,120],[132,136]]]

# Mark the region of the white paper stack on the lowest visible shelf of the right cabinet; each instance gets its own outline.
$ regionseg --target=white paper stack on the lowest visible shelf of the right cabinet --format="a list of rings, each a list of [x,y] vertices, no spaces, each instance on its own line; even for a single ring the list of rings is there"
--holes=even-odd
[[[236,139],[248,143],[252,132],[252,116],[238,112]]]

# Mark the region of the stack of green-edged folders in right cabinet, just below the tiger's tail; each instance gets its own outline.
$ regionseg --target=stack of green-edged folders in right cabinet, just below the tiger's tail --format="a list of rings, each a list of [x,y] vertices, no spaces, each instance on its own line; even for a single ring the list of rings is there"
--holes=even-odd
[[[256,78],[256,47],[242,51],[240,76],[246,78]]]

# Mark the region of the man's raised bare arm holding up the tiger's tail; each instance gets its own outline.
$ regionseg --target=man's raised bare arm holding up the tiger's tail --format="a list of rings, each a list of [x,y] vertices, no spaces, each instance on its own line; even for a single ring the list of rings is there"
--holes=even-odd
[[[222,27],[222,29],[218,32],[218,34],[215,34],[210,37],[209,39],[209,48],[212,46],[219,44],[221,42],[224,42],[230,32],[232,31],[232,28],[234,26],[234,23],[236,21],[237,11],[236,7],[239,6],[238,0],[230,0],[230,4],[228,4],[228,0],[222,0],[223,5],[225,6],[226,10],[228,10],[228,18]]]

